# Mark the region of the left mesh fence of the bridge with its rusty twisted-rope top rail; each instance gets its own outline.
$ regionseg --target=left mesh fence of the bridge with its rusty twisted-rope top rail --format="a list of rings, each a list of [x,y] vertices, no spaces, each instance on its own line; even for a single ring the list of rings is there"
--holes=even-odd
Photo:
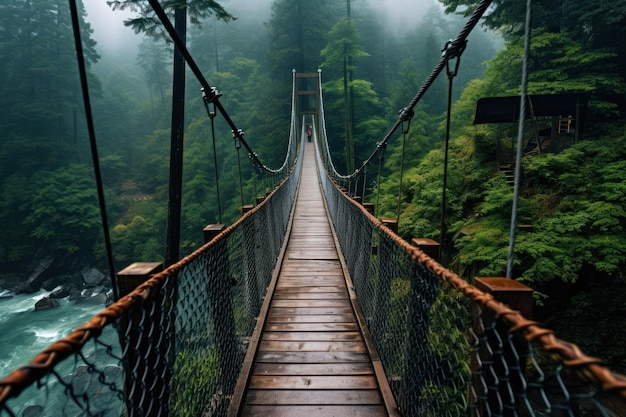
[[[217,238],[0,380],[0,415],[225,415],[300,165]]]

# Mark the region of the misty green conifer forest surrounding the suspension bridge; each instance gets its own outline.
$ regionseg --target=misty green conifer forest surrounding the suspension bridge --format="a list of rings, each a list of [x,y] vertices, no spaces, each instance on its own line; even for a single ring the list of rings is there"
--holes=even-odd
[[[321,69],[335,165],[351,172],[397,120],[477,3],[423,2],[419,21],[399,24],[362,0],[274,0],[263,8],[235,0],[220,6],[188,1],[186,42],[270,167],[282,163],[288,140],[292,70]],[[468,280],[506,272],[513,187],[502,167],[514,161],[517,123],[473,121],[479,99],[520,94],[524,3],[494,1],[454,78],[443,263]],[[517,236],[513,276],[534,288],[537,319],[624,372],[626,1],[533,3],[528,92],[578,94],[584,111],[575,140],[573,133],[559,135],[552,144],[561,146],[539,146],[522,160],[519,218],[526,227]],[[173,46],[152,25],[147,2],[109,4],[118,12],[139,11],[128,21],[140,40],[138,52],[128,56],[99,47],[81,8],[119,270],[164,257]],[[86,265],[106,269],[67,5],[0,4],[0,30],[0,286],[19,281],[51,255],[63,259],[68,275]],[[418,104],[405,147],[394,137],[380,179],[368,184],[366,200],[379,202],[379,216],[399,216],[399,234],[407,239],[439,239],[444,75]],[[255,192],[264,191],[228,126],[207,115],[189,72],[185,107],[183,255],[202,243],[205,225],[234,222],[242,202],[250,204]],[[525,143],[554,123],[529,120]]]

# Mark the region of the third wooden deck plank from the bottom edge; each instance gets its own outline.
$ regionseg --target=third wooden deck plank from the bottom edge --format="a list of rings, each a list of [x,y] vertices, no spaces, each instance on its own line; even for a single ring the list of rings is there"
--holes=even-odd
[[[371,375],[359,376],[281,376],[252,375],[249,389],[376,389],[378,383]]]

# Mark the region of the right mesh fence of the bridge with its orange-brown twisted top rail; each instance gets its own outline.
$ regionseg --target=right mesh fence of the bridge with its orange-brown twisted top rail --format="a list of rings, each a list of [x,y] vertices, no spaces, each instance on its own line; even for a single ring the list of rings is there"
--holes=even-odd
[[[326,175],[322,186],[403,415],[626,415],[625,377],[410,246]]]

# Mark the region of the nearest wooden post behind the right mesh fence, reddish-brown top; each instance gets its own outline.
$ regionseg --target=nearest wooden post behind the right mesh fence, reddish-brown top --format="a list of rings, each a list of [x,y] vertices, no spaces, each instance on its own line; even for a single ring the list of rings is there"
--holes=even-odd
[[[475,277],[474,286],[530,318],[533,306],[532,288],[504,277]],[[477,408],[471,415],[482,415],[487,405],[492,414],[503,417],[518,415],[520,410],[516,397],[525,395],[523,380],[528,342],[512,334],[509,326],[496,320],[491,311],[476,304],[474,331],[479,338],[479,348],[474,352],[472,369],[474,378],[480,375],[482,383],[473,383],[478,398]],[[479,364],[482,369],[479,369]],[[480,392],[480,387],[485,386],[487,391]]]

